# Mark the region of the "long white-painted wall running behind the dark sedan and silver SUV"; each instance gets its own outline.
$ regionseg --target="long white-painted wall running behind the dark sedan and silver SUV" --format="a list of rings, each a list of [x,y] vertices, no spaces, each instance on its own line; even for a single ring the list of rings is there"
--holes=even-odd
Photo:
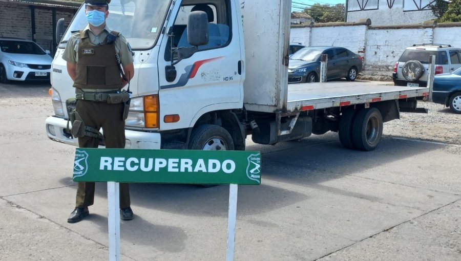
[[[429,26],[432,25],[432,26]],[[291,42],[340,46],[364,57],[362,78],[390,80],[394,63],[413,44],[448,44],[461,48],[461,23],[367,26],[353,23],[292,27]]]

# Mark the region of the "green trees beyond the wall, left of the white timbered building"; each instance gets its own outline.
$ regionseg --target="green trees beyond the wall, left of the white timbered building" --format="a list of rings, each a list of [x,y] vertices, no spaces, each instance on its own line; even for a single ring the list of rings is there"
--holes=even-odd
[[[313,4],[304,9],[304,12],[310,15],[317,23],[331,23],[344,21],[344,4],[322,5]]]

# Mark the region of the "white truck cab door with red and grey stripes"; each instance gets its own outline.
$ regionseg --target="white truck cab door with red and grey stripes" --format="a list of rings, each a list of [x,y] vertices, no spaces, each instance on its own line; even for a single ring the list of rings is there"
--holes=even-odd
[[[170,19],[174,23],[167,27],[172,27],[175,36],[163,37],[158,59],[161,129],[190,127],[194,119],[206,111],[235,108],[239,103],[242,104],[240,107],[243,106],[243,47],[235,18],[238,6],[234,6],[235,1],[231,0],[212,3],[187,1],[179,9],[173,9]],[[208,16],[208,44],[199,46],[191,57],[175,64],[176,77],[167,79],[165,68],[171,65],[171,39],[173,50],[192,48],[187,41],[187,17],[192,11],[203,11]],[[175,114],[179,114],[183,121],[162,124],[165,115]]]

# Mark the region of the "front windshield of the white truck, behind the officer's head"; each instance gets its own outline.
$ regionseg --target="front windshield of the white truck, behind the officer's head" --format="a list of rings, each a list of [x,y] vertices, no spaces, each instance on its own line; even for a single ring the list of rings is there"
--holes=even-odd
[[[133,49],[151,48],[161,32],[169,5],[170,0],[112,0],[107,25],[127,38]],[[69,40],[72,31],[81,30],[87,25],[85,6],[82,6],[62,37],[61,45]]]

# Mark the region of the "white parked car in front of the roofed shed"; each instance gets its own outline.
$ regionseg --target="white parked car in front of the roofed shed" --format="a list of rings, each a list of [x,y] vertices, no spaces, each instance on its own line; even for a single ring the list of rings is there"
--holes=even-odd
[[[50,80],[53,58],[33,41],[0,38],[0,82]]]

